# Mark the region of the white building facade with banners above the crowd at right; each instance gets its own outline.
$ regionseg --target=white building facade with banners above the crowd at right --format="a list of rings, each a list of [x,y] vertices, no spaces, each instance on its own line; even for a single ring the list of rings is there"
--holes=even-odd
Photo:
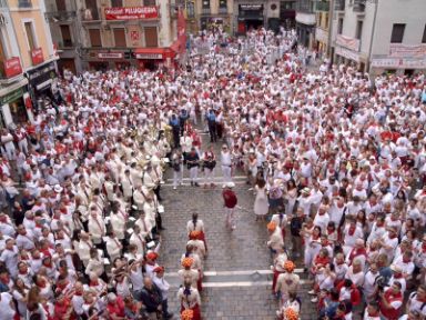
[[[335,0],[333,58],[362,71],[426,69],[426,1]]]

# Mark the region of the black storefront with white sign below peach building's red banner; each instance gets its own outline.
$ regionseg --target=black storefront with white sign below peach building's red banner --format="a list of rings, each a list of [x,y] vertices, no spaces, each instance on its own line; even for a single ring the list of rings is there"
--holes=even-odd
[[[41,66],[36,67],[32,70],[28,70],[27,78],[29,82],[29,91],[34,110],[38,111],[44,107],[44,100],[53,99],[52,87],[57,86],[58,73],[55,61],[49,61]]]

